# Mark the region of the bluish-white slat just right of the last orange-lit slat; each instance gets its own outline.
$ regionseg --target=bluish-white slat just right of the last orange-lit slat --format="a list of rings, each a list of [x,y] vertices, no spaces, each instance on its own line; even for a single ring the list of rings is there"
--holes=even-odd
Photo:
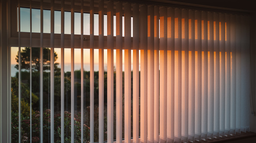
[[[241,16],[236,15],[236,133],[241,133]]]

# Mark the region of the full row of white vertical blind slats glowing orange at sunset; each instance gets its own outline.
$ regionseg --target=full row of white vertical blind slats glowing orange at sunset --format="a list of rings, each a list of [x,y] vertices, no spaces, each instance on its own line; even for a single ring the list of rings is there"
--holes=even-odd
[[[80,3],[81,2],[81,3]],[[40,60],[43,60],[43,0],[40,4]],[[86,4],[86,6],[84,6]],[[54,5],[51,1],[51,142],[54,142]],[[59,4],[57,4],[59,5]],[[64,0],[61,9],[61,142],[64,142]],[[88,5],[88,6],[87,6]],[[75,43],[75,0],[71,0],[71,142],[74,142],[74,48],[90,47],[90,142],[94,142],[94,49],[99,49],[99,142],[104,141],[104,49],[107,49],[107,141],[188,142],[249,132],[250,47],[249,20],[244,15],[114,1],[79,1],[81,41]],[[86,9],[89,8],[89,9]],[[30,11],[32,9],[30,0]],[[18,46],[21,47],[20,1]],[[84,45],[83,13],[90,12],[90,45]],[[32,12],[30,12],[32,13]],[[98,14],[98,37],[94,16]],[[104,37],[104,15],[107,36]],[[116,37],[114,37],[114,15]],[[124,16],[124,23],[122,17]],[[133,21],[131,21],[131,17]],[[31,23],[30,16],[30,23]],[[124,25],[124,31],[122,26]],[[133,30],[131,30],[131,26]],[[30,56],[32,56],[30,24]],[[124,38],[123,33],[124,32]],[[131,36],[133,35],[133,37]],[[95,46],[95,42],[98,42]],[[80,43],[80,45],[79,45]],[[79,46],[77,46],[79,45]],[[114,98],[114,49],[116,49],[116,98]],[[124,49],[124,62],[122,61]],[[140,55],[139,55],[140,53]],[[133,58],[131,58],[133,55]],[[140,61],[139,61],[140,56]],[[133,64],[131,64],[133,60]],[[140,64],[139,64],[140,62]],[[30,62],[32,63],[32,62]],[[124,97],[122,66],[124,63]],[[21,91],[19,60],[19,91]],[[30,65],[31,69],[32,64]],[[43,142],[43,62],[40,64],[40,141]],[[133,67],[131,70],[131,67]],[[132,71],[132,72],[131,72]],[[30,72],[32,73],[32,71]],[[131,74],[133,73],[133,74]],[[84,94],[81,72],[81,95]],[[132,78],[133,77],[133,78]],[[32,78],[32,74],[30,74]],[[132,79],[132,80],[131,80]],[[31,82],[31,81],[30,81]],[[32,87],[30,87],[32,88]],[[31,92],[30,92],[31,93]],[[30,96],[30,100],[31,100]],[[124,98],[124,119],[122,104]],[[19,115],[21,114],[19,92]],[[116,99],[114,101],[114,99]],[[81,131],[84,99],[81,96]],[[114,102],[116,108],[114,108]],[[31,102],[30,102],[31,103]],[[31,109],[30,109],[31,110]],[[116,110],[116,111],[114,111]],[[132,111],[132,112],[131,112]],[[114,121],[114,112],[116,121]],[[32,113],[30,113],[32,114]],[[131,120],[132,116],[132,120]],[[32,117],[30,116],[30,119]],[[131,121],[132,124],[131,124]],[[30,124],[32,124],[30,122]],[[32,130],[32,129],[30,129]],[[32,131],[31,131],[32,132]],[[133,136],[131,138],[131,135]],[[19,116],[19,142],[21,142]],[[30,139],[32,136],[30,136]],[[81,134],[81,142],[84,135]]]

